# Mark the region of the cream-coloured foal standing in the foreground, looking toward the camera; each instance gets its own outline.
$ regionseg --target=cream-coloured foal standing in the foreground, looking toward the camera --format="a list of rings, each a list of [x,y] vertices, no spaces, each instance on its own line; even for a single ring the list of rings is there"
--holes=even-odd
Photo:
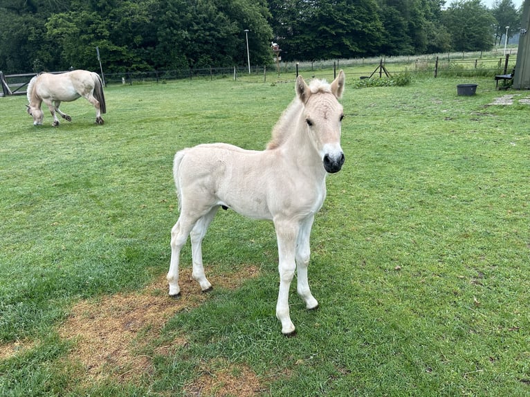
[[[326,197],[326,176],[340,171],[345,76],[331,84],[302,77],[296,96],[273,129],[264,151],[244,150],[225,143],[198,145],[178,151],[173,175],[180,216],[171,231],[171,262],[167,273],[170,295],[180,294],[179,256],[190,234],[192,277],[203,291],[212,288],[204,275],[201,243],[219,207],[254,219],[273,221],[277,236],[280,290],[276,317],[282,333],[295,326],[289,315],[289,286],[298,268],[298,294],[306,307],[318,306],[307,279],[309,234]]]

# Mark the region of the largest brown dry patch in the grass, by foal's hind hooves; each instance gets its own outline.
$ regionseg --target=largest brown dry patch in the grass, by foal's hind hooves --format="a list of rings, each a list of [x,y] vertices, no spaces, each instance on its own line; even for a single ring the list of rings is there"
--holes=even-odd
[[[241,281],[255,277],[254,266],[230,275],[210,277],[215,286],[237,288]],[[138,380],[152,369],[152,358],[138,353],[149,340],[156,338],[163,325],[175,313],[198,306],[208,294],[201,293],[199,284],[191,279],[191,269],[181,270],[181,297],[167,295],[165,275],[141,291],[118,293],[93,301],[82,301],[71,309],[68,320],[60,327],[62,338],[75,340],[69,360],[80,362],[86,371],[85,381],[113,377],[118,381]],[[185,338],[156,353],[170,353]]]

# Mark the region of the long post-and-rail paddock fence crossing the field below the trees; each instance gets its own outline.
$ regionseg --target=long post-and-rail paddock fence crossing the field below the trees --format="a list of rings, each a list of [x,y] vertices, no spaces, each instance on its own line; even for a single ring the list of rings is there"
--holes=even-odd
[[[434,77],[444,75],[491,75],[506,74],[513,68],[509,58],[517,55],[510,48],[504,55],[502,50],[488,53],[447,53],[400,57],[372,57],[358,59],[336,59],[313,62],[281,62],[277,65],[208,68],[181,68],[171,71],[125,71],[104,73],[105,84],[165,83],[170,80],[228,79],[243,82],[278,82],[294,80],[298,74],[304,77],[333,78],[340,68],[347,68],[354,78],[392,77],[399,73],[423,74]],[[51,72],[64,73],[64,72]],[[0,96],[25,95],[29,81],[37,73],[4,75],[0,71]]]

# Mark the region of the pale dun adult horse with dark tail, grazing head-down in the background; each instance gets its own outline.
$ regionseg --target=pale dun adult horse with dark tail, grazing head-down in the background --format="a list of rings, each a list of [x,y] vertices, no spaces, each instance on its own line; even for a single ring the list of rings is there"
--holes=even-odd
[[[72,102],[77,98],[86,98],[95,107],[95,123],[103,124],[102,113],[107,113],[103,84],[98,73],[89,71],[71,71],[53,75],[41,73],[33,77],[28,84],[28,113],[33,116],[33,125],[41,125],[44,113],[41,104],[48,105],[53,116],[53,127],[59,125],[56,113],[66,121],[72,118],[60,111],[61,102]]]

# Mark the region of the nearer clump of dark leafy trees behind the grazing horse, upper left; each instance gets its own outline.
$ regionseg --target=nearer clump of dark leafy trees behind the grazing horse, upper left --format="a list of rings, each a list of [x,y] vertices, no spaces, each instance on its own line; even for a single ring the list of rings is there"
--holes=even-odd
[[[5,0],[4,71],[143,71],[271,63],[264,0]]]

